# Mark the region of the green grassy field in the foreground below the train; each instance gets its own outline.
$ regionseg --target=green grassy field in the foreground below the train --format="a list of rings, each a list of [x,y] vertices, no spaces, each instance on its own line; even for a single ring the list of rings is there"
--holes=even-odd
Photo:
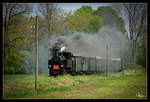
[[[144,69],[126,69],[120,73],[92,75],[39,75],[39,88],[34,89],[34,75],[4,75],[3,97],[49,99],[128,99],[147,98]]]

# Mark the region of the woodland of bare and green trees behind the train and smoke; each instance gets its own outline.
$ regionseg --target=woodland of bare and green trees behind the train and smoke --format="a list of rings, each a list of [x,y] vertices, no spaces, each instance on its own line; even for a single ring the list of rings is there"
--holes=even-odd
[[[36,10],[33,5],[3,3],[4,74],[35,73],[36,15],[38,15],[40,74],[47,73],[48,70],[49,39],[70,36],[74,32],[97,34],[103,39],[106,36],[113,36],[113,33],[108,32],[109,28],[117,30],[119,32],[117,36],[124,39],[119,55],[124,68],[135,71],[136,67],[146,68],[147,7],[145,4],[119,3],[99,6],[97,9],[83,5],[70,12],[66,12],[56,3],[38,3]],[[117,46],[122,46],[122,40],[118,41]],[[45,71],[42,70],[43,68]]]

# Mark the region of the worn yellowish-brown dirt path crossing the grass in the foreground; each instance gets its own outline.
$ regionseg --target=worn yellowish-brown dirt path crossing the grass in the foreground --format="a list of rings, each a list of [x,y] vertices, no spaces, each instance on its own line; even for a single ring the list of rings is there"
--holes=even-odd
[[[66,91],[66,92],[53,92],[53,93],[48,93],[48,94],[40,94],[38,96],[31,96],[29,98],[48,98],[48,97],[53,97],[56,99],[74,99],[74,98],[81,98],[81,97],[86,97],[88,94],[93,94],[95,93],[96,90],[93,90],[93,88],[97,85],[99,85],[99,82],[91,82],[88,84],[84,85],[76,85],[75,87],[72,88],[71,91]],[[88,94],[87,94],[88,93]],[[56,96],[57,95],[57,96]]]

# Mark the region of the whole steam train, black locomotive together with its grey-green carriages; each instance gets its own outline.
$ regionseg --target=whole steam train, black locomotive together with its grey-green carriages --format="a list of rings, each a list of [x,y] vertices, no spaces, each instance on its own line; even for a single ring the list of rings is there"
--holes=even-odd
[[[50,76],[119,72],[122,70],[121,58],[81,56],[64,49],[65,47],[51,49],[52,58],[48,60]]]

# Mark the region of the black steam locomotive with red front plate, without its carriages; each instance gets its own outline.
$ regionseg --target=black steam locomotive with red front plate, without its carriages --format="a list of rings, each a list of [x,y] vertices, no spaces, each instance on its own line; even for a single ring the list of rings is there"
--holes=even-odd
[[[61,49],[63,49],[63,47]],[[58,47],[51,49],[53,57],[48,60],[50,76],[64,75],[64,73],[70,73],[71,71],[71,67],[67,66],[67,61],[72,57],[72,54],[61,51],[61,49]]]

